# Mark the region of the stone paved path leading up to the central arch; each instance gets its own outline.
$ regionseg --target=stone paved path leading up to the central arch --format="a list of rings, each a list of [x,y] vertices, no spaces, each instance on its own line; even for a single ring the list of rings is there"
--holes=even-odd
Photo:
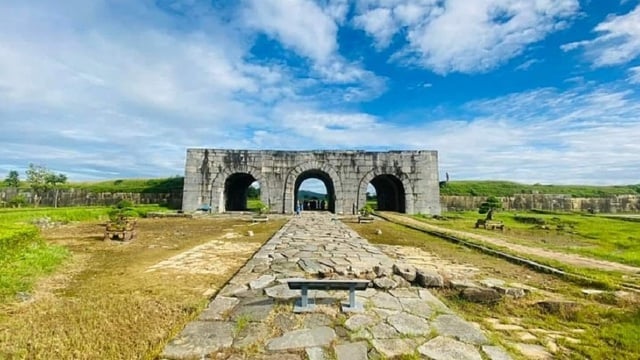
[[[510,359],[475,324],[429,290],[359,291],[362,313],[344,314],[346,291],[310,291],[316,310],[294,314],[286,279],[375,277],[394,260],[327,213],[292,218],[164,349],[163,359]],[[396,279],[398,280],[398,279]],[[397,281],[402,283],[401,281]]]

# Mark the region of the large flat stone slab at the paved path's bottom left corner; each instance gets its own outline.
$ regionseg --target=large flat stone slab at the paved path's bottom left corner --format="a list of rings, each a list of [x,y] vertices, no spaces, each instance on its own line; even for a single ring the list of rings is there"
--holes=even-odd
[[[222,321],[194,321],[171,340],[160,356],[164,359],[182,360],[204,358],[206,355],[233,343],[233,323]]]

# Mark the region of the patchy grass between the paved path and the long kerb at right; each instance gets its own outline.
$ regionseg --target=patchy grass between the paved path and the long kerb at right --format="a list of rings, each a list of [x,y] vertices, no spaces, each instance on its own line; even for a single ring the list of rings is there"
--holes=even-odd
[[[559,350],[554,358],[558,359],[637,359],[640,353],[640,304],[637,300],[617,297],[610,292],[585,297],[581,292],[582,287],[574,282],[472,251],[398,224],[375,221],[350,225],[372,243],[412,246],[434,254],[454,268],[460,265],[476,267],[476,279],[497,277],[508,283],[524,283],[540,289],[521,299],[507,297],[491,305],[465,301],[458,296],[459,291],[453,289],[435,291],[457,313],[482,324],[492,335],[492,340],[506,348],[512,348],[514,342],[522,342],[523,332],[530,332],[536,335],[535,344],[547,346],[549,341],[555,343]],[[381,230],[380,235],[378,229]],[[576,301],[580,306],[575,311],[553,314],[541,311],[534,305],[549,296]],[[521,328],[492,330],[488,321],[492,318]],[[518,358],[517,351],[512,350],[512,353]]]

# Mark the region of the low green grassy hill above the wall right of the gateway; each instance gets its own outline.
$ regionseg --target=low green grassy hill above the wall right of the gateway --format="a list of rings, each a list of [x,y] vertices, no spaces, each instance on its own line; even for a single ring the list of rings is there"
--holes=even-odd
[[[440,195],[512,196],[514,194],[565,194],[572,197],[639,195],[638,185],[542,185],[510,181],[449,181],[440,184]]]

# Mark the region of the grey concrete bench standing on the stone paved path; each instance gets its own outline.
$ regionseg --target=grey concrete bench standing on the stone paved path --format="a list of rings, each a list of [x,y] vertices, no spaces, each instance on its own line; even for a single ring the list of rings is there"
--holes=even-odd
[[[356,290],[365,290],[369,286],[369,280],[289,280],[287,285],[291,290],[300,290],[302,297],[293,312],[313,311],[313,304],[309,303],[309,290],[349,290],[349,303],[342,304],[343,312],[362,312],[362,304],[356,303]]]

